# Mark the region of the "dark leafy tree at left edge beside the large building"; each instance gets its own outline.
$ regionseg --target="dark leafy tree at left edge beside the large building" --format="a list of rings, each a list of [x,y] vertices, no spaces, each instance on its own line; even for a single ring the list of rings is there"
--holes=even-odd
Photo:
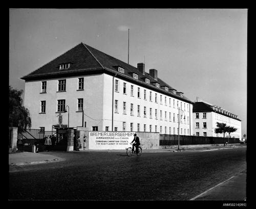
[[[23,90],[9,86],[9,127],[18,127],[18,132],[31,127],[29,110],[22,106]]]

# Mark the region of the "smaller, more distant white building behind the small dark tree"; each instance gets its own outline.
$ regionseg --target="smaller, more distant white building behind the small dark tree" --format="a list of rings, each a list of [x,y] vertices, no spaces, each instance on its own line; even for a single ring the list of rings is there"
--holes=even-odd
[[[237,128],[236,132],[230,133],[230,135],[226,133],[225,137],[241,139],[241,120],[237,115],[216,105],[211,105],[198,97],[193,106],[193,121],[195,136],[223,137],[223,134],[215,133],[217,122],[219,122]]]

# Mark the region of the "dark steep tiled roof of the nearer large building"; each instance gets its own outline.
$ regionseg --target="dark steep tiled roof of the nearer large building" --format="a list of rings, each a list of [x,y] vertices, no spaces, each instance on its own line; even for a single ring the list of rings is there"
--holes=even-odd
[[[63,63],[70,63],[70,68],[59,70],[59,65]],[[120,73],[117,71],[115,66],[120,66],[124,68],[124,73]],[[120,76],[126,75],[132,78],[132,72],[138,74],[138,81],[143,83],[144,79],[147,78],[150,80],[150,83],[157,82],[160,86],[166,86],[170,90],[174,89],[173,87],[169,86],[167,83],[163,82],[161,79],[157,79],[157,81],[147,72],[142,74],[136,67],[129,65],[121,60],[118,60],[110,55],[103,53],[87,44],[80,43],[73,47],[72,49],[68,50],[66,53],[60,55],[56,59],[50,61],[46,65],[38,68],[37,70],[29,73],[28,75],[22,77],[23,80],[36,80],[38,77],[40,79],[44,76],[65,76],[69,75],[72,76],[74,73],[83,73],[88,71],[95,71],[96,70],[105,70],[111,71],[112,73],[115,72]],[[150,86],[154,86],[153,84],[146,84]],[[160,91],[164,91],[159,89]],[[173,94],[172,92],[165,93],[171,94],[174,97],[188,100],[190,103],[193,103],[191,100],[186,98],[185,96],[180,97],[179,95]]]

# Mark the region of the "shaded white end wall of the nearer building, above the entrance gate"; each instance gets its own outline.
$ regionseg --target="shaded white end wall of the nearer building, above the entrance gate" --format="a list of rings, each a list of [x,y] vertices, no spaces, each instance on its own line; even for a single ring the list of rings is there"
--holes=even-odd
[[[57,92],[58,80],[48,79],[47,93],[41,92],[42,81],[25,83],[24,106],[29,109],[32,127],[45,127],[45,130],[52,130],[53,124],[58,124],[59,113],[57,112],[57,100],[66,99],[66,106],[69,106],[70,127],[82,126],[82,112],[77,111],[77,99],[83,98],[84,121],[87,127],[99,126],[102,128],[102,106],[103,106],[103,74],[79,76],[84,77],[84,90],[77,91],[78,77],[64,77],[66,79],[66,92]],[[40,101],[46,100],[46,114],[40,113]],[[67,108],[68,110],[68,108]],[[68,113],[61,113],[63,124],[68,124]]]

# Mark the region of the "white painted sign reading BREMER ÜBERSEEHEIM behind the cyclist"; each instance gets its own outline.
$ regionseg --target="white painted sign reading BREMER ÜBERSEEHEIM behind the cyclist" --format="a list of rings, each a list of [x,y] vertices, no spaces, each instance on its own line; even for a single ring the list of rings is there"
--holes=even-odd
[[[89,149],[125,149],[135,132],[89,132]]]

